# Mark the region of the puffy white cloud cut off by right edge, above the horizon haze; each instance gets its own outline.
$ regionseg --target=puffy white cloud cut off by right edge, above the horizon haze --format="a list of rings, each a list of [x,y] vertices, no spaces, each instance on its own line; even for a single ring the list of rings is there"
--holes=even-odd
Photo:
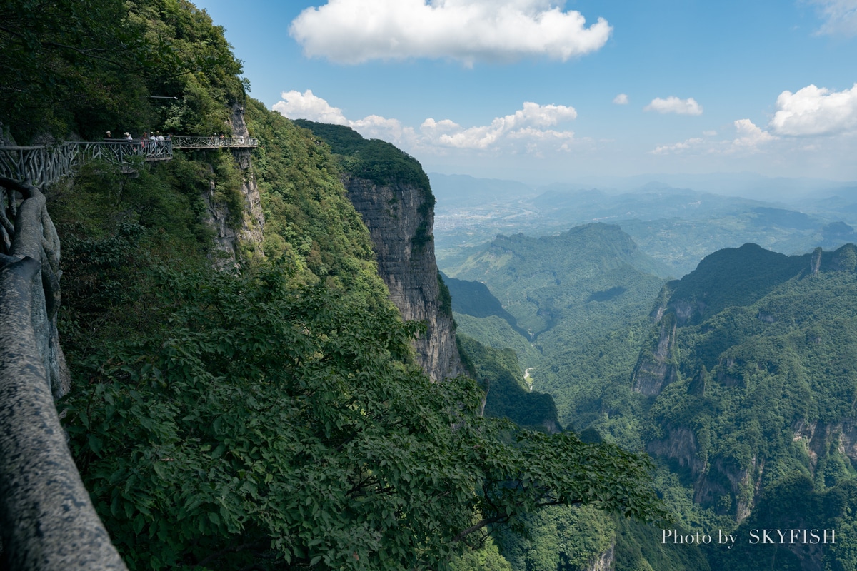
[[[780,93],[770,128],[794,136],[857,130],[857,83],[842,92],[810,85],[794,93]]]

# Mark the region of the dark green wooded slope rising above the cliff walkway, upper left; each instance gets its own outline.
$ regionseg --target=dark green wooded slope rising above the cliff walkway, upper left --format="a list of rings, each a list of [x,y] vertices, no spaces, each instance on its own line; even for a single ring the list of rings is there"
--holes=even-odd
[[[0,122],[19,143],[219,133],[243,100],[223,28],[186,0],[11,0],[0,22]]]

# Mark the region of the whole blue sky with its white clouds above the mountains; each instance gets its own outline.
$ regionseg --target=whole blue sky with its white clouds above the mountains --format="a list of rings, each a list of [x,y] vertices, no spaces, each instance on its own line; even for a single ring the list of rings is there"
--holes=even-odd
[[[253,97],[428,171],[857,180],[857,0],[195,3]]]

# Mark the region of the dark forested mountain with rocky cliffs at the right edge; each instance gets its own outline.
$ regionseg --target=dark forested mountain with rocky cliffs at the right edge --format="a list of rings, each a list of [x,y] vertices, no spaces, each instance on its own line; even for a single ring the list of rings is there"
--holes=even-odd
[[[656,307],[632,378],[650,395],[647,449],[700,507],[743,522],[739,534],[840,533],[812,549],[716,554],[730,567],[854,562],[855,270],[852,244],[792,257],[747,244],[708,256]]]

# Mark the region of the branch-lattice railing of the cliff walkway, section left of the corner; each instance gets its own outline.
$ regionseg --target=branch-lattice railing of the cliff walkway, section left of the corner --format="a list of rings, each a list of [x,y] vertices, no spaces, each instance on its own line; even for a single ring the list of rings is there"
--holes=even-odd
[[[30,180],[43,187],[96,158],[118,164],[123,170],[133,170],[136,157],[144,161],[170,160],[171,141],[70,141],[50,146],[0,146],[0,176],[16,181]]]

